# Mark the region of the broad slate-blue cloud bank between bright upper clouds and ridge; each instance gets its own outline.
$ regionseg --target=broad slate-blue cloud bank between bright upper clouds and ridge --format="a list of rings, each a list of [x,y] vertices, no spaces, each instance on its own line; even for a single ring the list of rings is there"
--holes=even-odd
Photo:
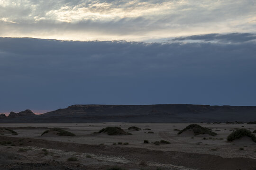
[[[227,37],[231,43],[0,38],[0,108],[255,105],[256,43]]]

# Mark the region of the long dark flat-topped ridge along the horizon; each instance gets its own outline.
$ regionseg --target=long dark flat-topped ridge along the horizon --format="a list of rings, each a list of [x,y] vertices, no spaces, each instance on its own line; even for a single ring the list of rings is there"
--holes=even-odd
[[[31,110],[30,110],[31,111]],[[32,112],[32,111],[31,111]],[[0,122],[201,122],[255,121],[256,106],[210,106],[195,104],[102,105],[76,104],[35,115],[25,110]],[[15,114],[20,115],[15,117]],[[31,116],[29,115],[31,114]],[[33,116],[32,116],[33,115]]]

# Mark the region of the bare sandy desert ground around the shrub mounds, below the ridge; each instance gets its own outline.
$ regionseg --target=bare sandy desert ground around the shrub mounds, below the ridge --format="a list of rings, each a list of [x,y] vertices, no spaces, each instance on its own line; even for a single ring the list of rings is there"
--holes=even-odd
[[[16,170],[15,166],[32,167],[28,170],[47,170],[49,167],[55,167],[55,170],[66,170],[68,167],[73,170],[106,170],[112,166],[128,170],[256,170],[256,143],[247,138],[226,141],[236,128],[253,131],[256,125],[197,124],[211,128],[218,135],[177,135],[178,131],[174,131],[183,129],[189,123],[0,123],[0,127],[15,127],[14,130],[18,132],[17,136],[0,136],[1,141],[16,145],[0,146],[1,160],[5,159],[0,164],[4,164],[6,170]],[[108,126],[121,127],[132,135],[93,134]],[[131,126],[140,127],[141,130],[129,131],[128,127]],[[47,127],[68,128],[76,136],[41,136]],[[143,144],[145,139],[150,144]],[[171,144],[151,144],[162,139]],[[128,145],[113,145],[118,142],[128,142]],[[241,147],[244,150],[239,150]],[[28,149],[18,152],[20,148]],[[43,148],[47,148],[47,154],[42,151]],[[67,161],[71,156],[77,157],[78,161]],[[15,166],[13,163],[16,163]]]

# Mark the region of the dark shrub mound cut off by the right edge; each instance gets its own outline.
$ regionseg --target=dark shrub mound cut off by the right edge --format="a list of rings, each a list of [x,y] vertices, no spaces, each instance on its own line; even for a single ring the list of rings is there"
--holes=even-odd
[[[254,134],[252,134],[251,131],[245,129],[245,128],[241,128],[238,129],[234,132],[232,132],[228,137],[227,140],[228,141],[233,141],[235,139],[240,139],[243,136],[248,136],[252,139],[252,141],[256,142],[256,136]]]

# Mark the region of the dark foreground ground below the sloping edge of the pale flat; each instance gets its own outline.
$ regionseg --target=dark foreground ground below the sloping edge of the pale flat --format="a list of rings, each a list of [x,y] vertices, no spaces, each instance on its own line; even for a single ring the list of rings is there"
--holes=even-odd
[[[0,136],[1,170],[256,170],[256,159]],[[15,145],[15,146],[11,146]],[[46,149],[47,153],[42,151]],[[24,149],[22,151],[22,149]],[[71,156],[77,161],[67,161]]]

